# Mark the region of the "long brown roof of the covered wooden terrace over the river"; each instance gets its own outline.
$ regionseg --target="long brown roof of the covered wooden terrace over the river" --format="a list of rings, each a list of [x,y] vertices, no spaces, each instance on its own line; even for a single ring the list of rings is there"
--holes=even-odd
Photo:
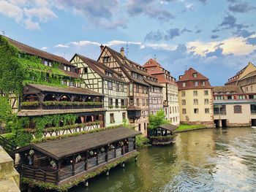
[[[140,134],[140,132],[130,128],[113,128],[91,134],[82,134],[77,137],[67,137],[31,144],[27,147],[16,150],[16,153],[28,150],[29,148],[34,148],[35,150],[39,150],[53,158],[60,159],[72,154],[108,145],[121,139],[135,137],[138,134]]]

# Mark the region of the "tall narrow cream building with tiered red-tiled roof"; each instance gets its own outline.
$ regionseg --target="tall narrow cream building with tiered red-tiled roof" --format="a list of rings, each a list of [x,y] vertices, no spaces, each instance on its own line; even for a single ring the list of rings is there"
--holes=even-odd
[[[179,106],[178,106],[178,85],[176,79],[170,75],[166,69],[164,69],[156,60],[149,59],[146,64],[143,65],[147,69],[148,74],[156,77],[158,82],[163,86],[163,109],[167,120],[170,120],[171,124],[178,126],[180,123],[179,118]]]

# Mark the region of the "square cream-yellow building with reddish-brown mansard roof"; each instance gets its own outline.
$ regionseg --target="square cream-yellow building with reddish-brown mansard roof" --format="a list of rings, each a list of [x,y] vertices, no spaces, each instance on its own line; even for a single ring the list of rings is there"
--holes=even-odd
[[[208,78],[189,68],[179,76],[177,84],[181,123],[214,127],[213,95]]]

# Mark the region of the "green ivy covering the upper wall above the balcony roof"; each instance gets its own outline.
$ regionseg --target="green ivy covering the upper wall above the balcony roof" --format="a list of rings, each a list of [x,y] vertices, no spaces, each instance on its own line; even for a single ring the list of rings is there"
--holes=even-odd
[[[59,69],[58,63],[45,66],[40,58],[21,53],[3,36],[0,36],[0,66],[0,90],[5,94],[20,95],[26,83],[67,87],[61,81],[70,79]]]

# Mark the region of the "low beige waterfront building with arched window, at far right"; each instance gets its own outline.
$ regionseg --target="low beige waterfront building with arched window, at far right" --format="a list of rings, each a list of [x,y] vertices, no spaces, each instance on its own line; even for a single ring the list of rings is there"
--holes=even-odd
[[[217,127],[256,126],[256,93],[239,85],[213,88],[214,123]]]

